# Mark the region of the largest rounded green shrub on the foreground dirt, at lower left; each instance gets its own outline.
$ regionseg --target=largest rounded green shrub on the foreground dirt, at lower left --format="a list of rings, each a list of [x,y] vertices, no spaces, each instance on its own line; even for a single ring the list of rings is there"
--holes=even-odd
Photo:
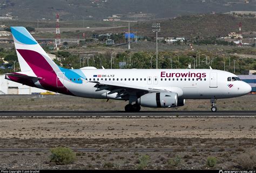
[[[55,162],[56,164],[69,164],[76,160],[76,153],[70,148],[57,147],[50,151],[50,162]]]

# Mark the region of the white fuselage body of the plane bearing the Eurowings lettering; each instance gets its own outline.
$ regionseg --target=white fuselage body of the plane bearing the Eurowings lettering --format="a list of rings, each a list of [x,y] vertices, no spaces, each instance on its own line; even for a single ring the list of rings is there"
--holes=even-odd
[[[86,79],[82,84],[64,80],[64,85],[76,96],[97,99],[119,99],[117,93],[106,95],[110,91],[97,91],[94,82],[122,84],[127,86],[161,89],[178,93],[182,99],[223,99],[245,95],[251,91],[244,81],[228,81],[228,77],[237,77],[230,72],[208,69],[127,69],[127,70],[82,70]],[[195,74],[197,75],[195,77]],[[97,77],[96,77],[97,75]],[[201,76],[200,76],[201,75]],[[183,77],[182,77],[183,76]],[[199,77],[200,76],[200,77]],[[74,80],[74,79],[72,79]],[[75,79],[78,80],[78,79]],[[232,84],[232,87],[228,85]]]

